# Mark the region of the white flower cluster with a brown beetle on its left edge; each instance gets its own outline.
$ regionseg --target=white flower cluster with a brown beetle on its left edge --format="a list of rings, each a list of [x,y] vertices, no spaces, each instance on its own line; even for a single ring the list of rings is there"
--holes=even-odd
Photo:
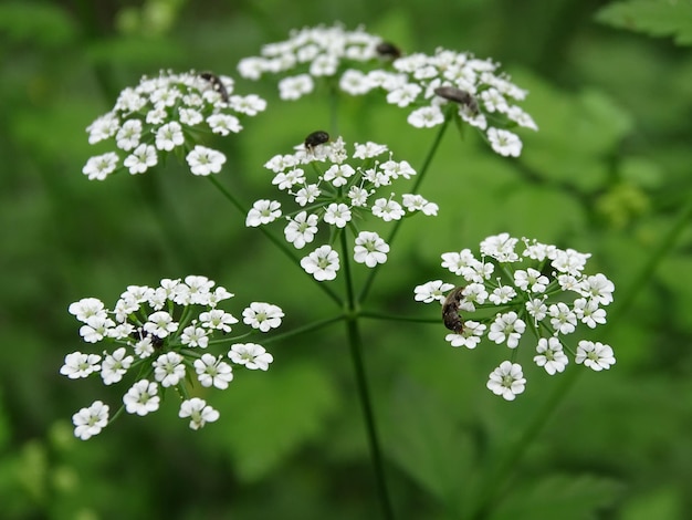
[[[459,315],[460,330],[445,336],[452,346],[474,349],[486,336],[515,350],[530,330],[537,340],[533,361],[551,375],[564,372],[569,362],[565,351],[594,371],[615,364],[609,345],[580,340],[573,350],[564,344],[579,325],[596,329],[606,323],[604,306],[612,302],[614,283],[601,273],[584,273],[590,254],[508,233],[487,237],[480,251],[481,259],[469,249],[442,254],[442,267],[460,275],[461,282],[433,280],[415,289],[417,301],[439,301],[443,313]],[[476,320],[461,315],[484,310],[485,318]],[[525,383],[521,365],[505,361],[491,374],[487,387],[511,401]]]

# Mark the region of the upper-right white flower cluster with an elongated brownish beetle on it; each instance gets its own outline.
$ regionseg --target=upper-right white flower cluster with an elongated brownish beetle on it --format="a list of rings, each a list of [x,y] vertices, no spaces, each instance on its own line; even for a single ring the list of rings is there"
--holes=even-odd
[[[451,103],[459,117],[484,132],[493,150],[503,156],[518,157],[522,152],[520,137],[506,127],[538,129],[516,104],[526,97],[526,91],[499,74],[499,65],[490,60],[438,49],[433,55],[399,58],[392,66],[394,72],[348,70],[342,77],[342,89],[354,95],[385,90],[388,103],[413,107],[408,122],[418,128],[441,125]]]

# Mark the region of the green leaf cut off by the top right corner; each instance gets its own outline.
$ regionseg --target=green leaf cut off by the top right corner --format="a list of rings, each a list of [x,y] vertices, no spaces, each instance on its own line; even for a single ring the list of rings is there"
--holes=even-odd
[[[692,44],[690,1],[631,0],[611,3],[598,11],[596,20],[652,37],[672,37],[679,45]]]

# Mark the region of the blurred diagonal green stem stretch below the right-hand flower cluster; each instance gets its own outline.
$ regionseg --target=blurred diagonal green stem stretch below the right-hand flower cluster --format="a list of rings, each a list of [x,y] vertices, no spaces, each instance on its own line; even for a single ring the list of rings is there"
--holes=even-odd
[[[523,434],[504,451],[500,460],[485,474],[481,481],[478,501],[473,506],[469,518],[471,520],[482,520],[487,518],[492,511],[493,502],[496,501],[497,495],[504,489],[507,480],[512,476],[512,469],[524,456],[526,450],[536,440],[538,431],[545,426],[553,413],[557,409],[557,405],[563,401],[565,395],[572,389],[583,371],[579,367],[568,371],[560,378],[559,385],[548,396],[547,401],[534,415]]]

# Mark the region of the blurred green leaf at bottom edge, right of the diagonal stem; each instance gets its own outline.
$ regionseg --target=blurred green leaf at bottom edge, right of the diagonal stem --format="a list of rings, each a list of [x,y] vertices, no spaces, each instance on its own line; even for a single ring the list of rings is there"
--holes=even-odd
[[[515,488],[491,520],[586,520],[619,498],[621,485],[612,479],[553,475]]]

